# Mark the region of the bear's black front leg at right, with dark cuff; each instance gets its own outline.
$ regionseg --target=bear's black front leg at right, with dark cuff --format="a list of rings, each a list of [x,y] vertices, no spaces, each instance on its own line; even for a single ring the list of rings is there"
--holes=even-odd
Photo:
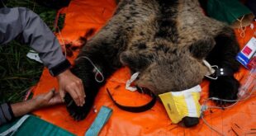
[[[209,97],[217,97],[225,100],[236,100],[239,89],[239,82],[235,79],[234,73],[239,70],[239,63],[235,56],[239,52],[239,45],[235,39],[234,31],[227,27],[215,37],[216,46],[211,50],[206,60],[211,65],[219,68],[227,68],[229,75],[220,76],[216,80],[210,80]],[[225,73],[225,72],[224,72]],[[224,104],[223,101],[216,101]]]

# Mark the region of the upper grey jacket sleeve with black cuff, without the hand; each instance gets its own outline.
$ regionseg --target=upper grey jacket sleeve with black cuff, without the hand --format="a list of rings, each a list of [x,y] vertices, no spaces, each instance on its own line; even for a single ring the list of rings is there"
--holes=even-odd
[[[36,13],[24,7],[0,8],[0,45],[21,35],[31,45],[52,75],[63,72],[70,63],[62,54],[59,41]]]

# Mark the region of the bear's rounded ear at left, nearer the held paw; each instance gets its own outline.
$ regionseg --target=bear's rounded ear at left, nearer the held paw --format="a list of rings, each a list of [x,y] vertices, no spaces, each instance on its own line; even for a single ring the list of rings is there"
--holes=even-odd
[[[121,63],[133,71],[139,71],[149,65],[149,58],[135,52],[125,51],[120,55]]]

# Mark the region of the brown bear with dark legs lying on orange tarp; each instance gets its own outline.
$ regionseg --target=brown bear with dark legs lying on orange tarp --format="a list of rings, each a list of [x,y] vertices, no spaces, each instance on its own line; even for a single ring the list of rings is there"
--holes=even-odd
[[[237,72],[238,52],[234,31],[205,16],[197,0],[121,0],[106,26],[80,50],[72,72],[83,80],[85,105],[76,106],[67,94],[67,109],[83,120],[105,83],[96,82],[95,68],[83,56],[105,79],[123,66],[140,72],[135,84],[159,95],[200,84],[208,71],[203,59]],[[234,76],[218,77],[210,80],[209,96],[235,100],[238,87]]]

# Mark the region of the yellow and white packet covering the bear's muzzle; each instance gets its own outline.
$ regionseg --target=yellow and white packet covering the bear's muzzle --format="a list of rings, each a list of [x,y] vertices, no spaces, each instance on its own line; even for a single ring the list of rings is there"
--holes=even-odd
[[[200,117],[200,91],[198,85],[185,91],[170,91],[159,95],[173,124],[178,124],[184,117]]]

